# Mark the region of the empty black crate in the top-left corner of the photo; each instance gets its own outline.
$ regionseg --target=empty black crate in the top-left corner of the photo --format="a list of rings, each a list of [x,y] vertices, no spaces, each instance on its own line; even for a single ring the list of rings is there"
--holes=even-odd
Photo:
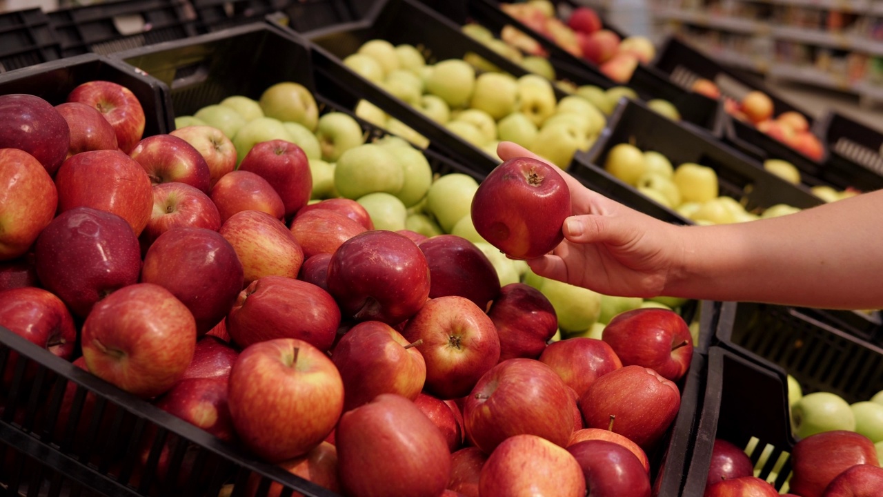
[[[61,45],[43,11],[0,14],[0,73],[61,57]]]

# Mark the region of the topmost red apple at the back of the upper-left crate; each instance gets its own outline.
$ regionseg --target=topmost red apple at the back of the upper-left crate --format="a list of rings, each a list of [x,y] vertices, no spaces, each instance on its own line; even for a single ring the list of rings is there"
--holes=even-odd
[[[117,146],[128,154],[144,134],[144,109],[129,88],[112,81],[88,81],[73,88],[68,102],[85,103],[101,112],[117,134]]]

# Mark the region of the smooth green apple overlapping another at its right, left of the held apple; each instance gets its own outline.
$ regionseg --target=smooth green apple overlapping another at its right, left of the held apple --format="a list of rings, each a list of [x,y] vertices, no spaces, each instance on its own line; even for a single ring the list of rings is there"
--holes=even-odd
[[[366,143],[337,159],[334,184],[341,196],[353,200],[374,192],[395,195],[404,186],[404,168],[390,149]]]

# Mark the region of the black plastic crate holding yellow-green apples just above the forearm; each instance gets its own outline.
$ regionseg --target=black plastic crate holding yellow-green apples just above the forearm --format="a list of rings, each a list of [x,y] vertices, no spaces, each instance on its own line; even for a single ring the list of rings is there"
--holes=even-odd
[[[806,187],[793,185],[766,172],[760,164],[743,156],[736,149],[730,149],[711,135],[681,126],[651,111],[643,103],[629,100],[624,100],[617,106],[608,120],[608,127],[589,150],[590,162],[574,171],[574,174],[587,178],[592,183],[600,182],[599,179],[603,178],[609,186],[608,190],[600,192],[605,195],[608,191],[629,191],[634,196],[644,197],[635,187],[615,179],[603,169],[608,151],[619,143],[631,143],[641,150],[656,150],[668,157],[675,167],[685,162],[711,167],[717,172],[721,195],[743,201],[745,209],[749,211],[766,209],[777,203],[787,203],[799,209],[822,203]],[[643,210],[645,204],[629,205],[657,218],[692,224],[675,210],[650,199],[645,200],[653,203],[657,209],[647,211]]]

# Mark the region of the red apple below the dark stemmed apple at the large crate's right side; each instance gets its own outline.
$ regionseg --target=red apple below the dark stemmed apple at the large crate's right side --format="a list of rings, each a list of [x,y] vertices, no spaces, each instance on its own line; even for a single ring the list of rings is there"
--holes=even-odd
[[[596,379],[579,397],[589,428],[608,428],[645,451],[653,448],[675,421],[681,394],[674,383],[643,366],[624,366]]]

